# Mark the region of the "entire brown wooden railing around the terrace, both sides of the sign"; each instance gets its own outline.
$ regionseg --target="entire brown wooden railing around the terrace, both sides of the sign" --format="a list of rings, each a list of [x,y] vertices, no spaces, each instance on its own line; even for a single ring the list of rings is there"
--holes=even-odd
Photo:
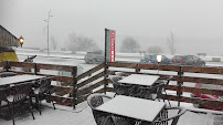
[[[185,103],[194,103],[194,104],[203,104],[203,105],[212,105],[213,107],[219,107],[223,105],[222,101],[213,101],[205,98],[194,98],[190,96],[184,96],[183,93],[199,93],[199,94],[211,94],[223,96],[222,90],[209,90],[209,88],[198,88],[191,87],[191,83],[205,83],[205,84],[214,84],[214,85],[223,85],[223,79],[213,79],[213,77],[204,77],[204,76],[188,76],[185,73],[195,73],[200,74],[219,74],[220,76],[223,74],[223,67],[195,67],[195,66],[179,66],[179,65],[157,65],[157,64],[139,64],[139,63],[120,63],[120,62],[109,62],[107,63],[107,72],[105,74],[105,64],[99,64],[94,69],[73,77],[67,76],[59,76],[51,74],[41,74],[38,71],[41,70],[53,70],[53,71],[67,71],[72,72],[72,74],[76,74],[74,66],[67,65],[52,65],[52,64],[38,64],[38,63],[23,63],[23,62],[9,62],[8,69],[6,66],[7,62],[0,62],[0,66],[3,66],[6,70],[17,72],[19,74],[38,74],[45,76],[53,76],[54,81],[66,82],[70,83],[70,86],[57,86],[52,85],[52,93],[57,93],[53,95],[54,101],[59,104],[66,104],[75,106],[78,103],[86,101],[86,97],[91,93],[96,92],[113,92],[113,87],[109,75],[113,75],[115,72],[125,72],[127,74],[150,74],[150,75],[173,75],[171,82],[176,82],[176,85],[168,85],[169,91],[177,92],[176,95],[168,94],[162,95],[163,98],[169,98],[171,101],[178,101]],[[13,67],[30,67],[34,69],[34,73],[31,72],[19,72],[13,71]],[[158,72],[159,70],[159,72]],[[152,71],[152,72],[151,72]],[[168,72],[166,72],[168,71]],[[169,74],[169,71],[171,74]],[[223,75],[222,75],[223,76]],[[77,83],[77,84],[76,84]],[[106,84],[106,85],[105,85]],[[68,94],[68,97],[64,97],[65,94]]]

